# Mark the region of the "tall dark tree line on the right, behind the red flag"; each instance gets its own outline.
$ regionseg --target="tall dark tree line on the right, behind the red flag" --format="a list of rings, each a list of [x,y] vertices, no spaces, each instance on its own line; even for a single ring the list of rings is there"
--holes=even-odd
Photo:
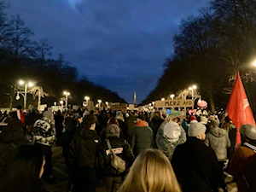
[[[181,20],[174,52],[144,103],[197,84],[212,111],[226,108],[236,71],[255,112],[256,2],[212,0],[198,15]]]

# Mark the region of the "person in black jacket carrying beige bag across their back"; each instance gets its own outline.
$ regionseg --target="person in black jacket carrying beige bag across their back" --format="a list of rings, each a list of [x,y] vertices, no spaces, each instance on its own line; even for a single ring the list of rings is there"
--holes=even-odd
[[[119,189],[125,178],[125,174],[129,171],[134,161],[134,155],[132,154],[129,143],[125,139],[119,138],[119,135],[120,129],[118,125],[108,125],[106,131],[107,140],[102,142],[97,159],[97,168],[104,177],[108,192],[116,192]],[[108,148],[108,141],[113,153],[122,160],[125,160],[125,172],[120,173],[111,165],[111,152]]]

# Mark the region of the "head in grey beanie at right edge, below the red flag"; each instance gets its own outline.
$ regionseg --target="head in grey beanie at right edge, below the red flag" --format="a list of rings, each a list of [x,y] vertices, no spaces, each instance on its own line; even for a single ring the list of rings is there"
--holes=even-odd
[[[254,125],[245,124],[240,128],[241,143],[250,143],[256,146],[256,127]]]

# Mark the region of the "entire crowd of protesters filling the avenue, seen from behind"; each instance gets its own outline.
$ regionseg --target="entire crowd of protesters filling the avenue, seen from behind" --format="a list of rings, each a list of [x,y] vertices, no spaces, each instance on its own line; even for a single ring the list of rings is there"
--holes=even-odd
[[[231,176],[239,191],[256,191],[256,127],[242,125],[236,146],[236,126],[217,114],[19,107],[0,117],[0,191],[44,192],[44,183],[55,184],[53,145],[62,148],[67,191],[95,192],[98,181],[108,192],[228,191]]]

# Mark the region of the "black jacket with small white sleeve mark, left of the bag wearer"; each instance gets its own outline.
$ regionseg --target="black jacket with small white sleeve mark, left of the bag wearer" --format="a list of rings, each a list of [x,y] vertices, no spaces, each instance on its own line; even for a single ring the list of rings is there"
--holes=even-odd
[[[96,152],[100,138],[96,131],[83,129],[78,137],[74,137],[69,148],[68,160],[73,168],[96,167]]]

